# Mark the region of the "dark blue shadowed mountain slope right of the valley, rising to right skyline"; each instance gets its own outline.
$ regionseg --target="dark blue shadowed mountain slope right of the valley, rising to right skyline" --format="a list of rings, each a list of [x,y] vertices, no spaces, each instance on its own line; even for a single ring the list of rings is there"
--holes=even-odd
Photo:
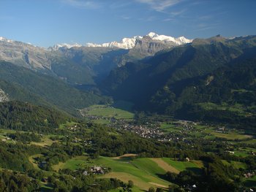
[[[173,110],[169,107],[174,106],[187,83],[230,62],[255,57],[255,47],[255,36],[195,39],[148,61],[113,70],[102,82],[102,90],[116,99],[134,102],[140,110],[173,112],[178,106]]]

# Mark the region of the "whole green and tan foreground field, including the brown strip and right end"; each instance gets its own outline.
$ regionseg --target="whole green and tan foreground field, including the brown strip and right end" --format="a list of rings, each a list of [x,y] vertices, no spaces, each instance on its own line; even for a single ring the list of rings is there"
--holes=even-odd
[[[185,169],[191,169],[195,172],[200,171],[203,163],[173,161],[169,158],[132,158],[133,155],[124,157],[108,158],[99,157],[97,159],[88,159],[85,156],[72,158],[65,163],[53,166],[55,171],[59,169],[78,169],[86,166],[110,167],[108,174],[99,175],[104,178],[118,178],[124,182],[132,180],[135,184],[133,191],[148,190],[150,187],[167,188],[171,183],[162,179],[166,172],[181,172]]]

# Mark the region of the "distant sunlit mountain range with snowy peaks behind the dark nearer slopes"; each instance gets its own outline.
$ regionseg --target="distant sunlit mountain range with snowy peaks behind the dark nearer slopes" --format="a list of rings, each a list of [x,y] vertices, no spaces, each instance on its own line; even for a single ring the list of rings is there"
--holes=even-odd
[[[0,38],[0,59],[43,74],[61,78],[73,85],[95,85],[116,66],[152,56],[159,50],[192,40],[149,33],[103,45],[54,45],[45,49],[28,43]]]

